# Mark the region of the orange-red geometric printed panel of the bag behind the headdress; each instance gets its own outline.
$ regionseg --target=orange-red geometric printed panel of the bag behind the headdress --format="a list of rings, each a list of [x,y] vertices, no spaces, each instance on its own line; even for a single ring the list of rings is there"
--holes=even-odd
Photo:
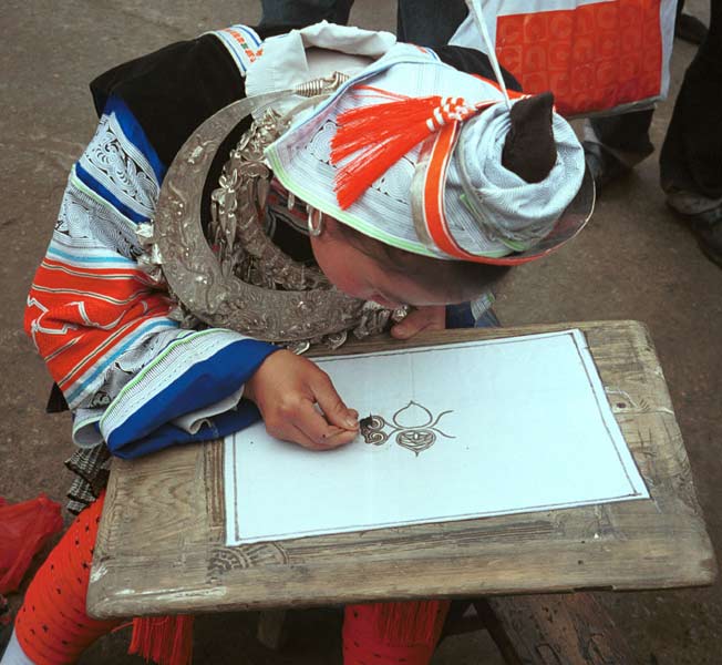
[[[524,92],[551,90],[561,115],[661,94],[659,0],[499,16],[495,47],[499,63]]]

